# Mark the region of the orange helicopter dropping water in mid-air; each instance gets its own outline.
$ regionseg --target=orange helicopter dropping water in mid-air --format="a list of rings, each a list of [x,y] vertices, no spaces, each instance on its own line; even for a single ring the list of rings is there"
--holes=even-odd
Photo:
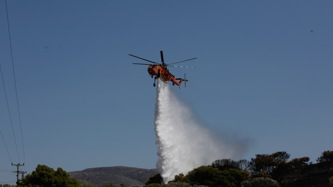
[[[132,57],[136,57],[134,55],[131,55]],[[166,68],[167,66],[171,65],[171,64],[165,64],[164,63],[164,59],[163,59],[163,51],[161,51],[161,60],[162,60],[162,64],[156,63],[156,62],[152,62],[140,57],[136,57],[154,64],[142,64],[142,65],[149,65],[148,67],[148,73],[149,75],[153,78],[153,76],[155,76],[155,80],[154,80],[154,87],[156,86],[155,82],[156,79],[160,78],[162,81],[164,82],[172,82],[172,85],[177,85],[180,89],[180,84],[185,81],[185,88],[186,88],[186,81],[188,82],[188,80],[186,80],[186,77],[184,77],[184,79],[175,79],[174,75],[172,75],[171,73],[169,73],[169,70]],[[197,58],[194,58],[197,59]],[[193,60],[193,59],[189,59],[189,60]],[[185,61],[189,61],[189,60],[185,60]],[[181,61],[181,62],[185,62],[185,61]],[[176,62],[179,63],[179,62]],[[172,64],[176,64],[176,63],[172,63]],[[133,64],[137,64],[137,63],[133,63]],[[186,67],[186,66],[169,66],[169,67],[182,67],[182,68],[196,68],[196,67]],[[184,73],[185,74],[185,73]],[[179,82],[177,80],[180,80]]]

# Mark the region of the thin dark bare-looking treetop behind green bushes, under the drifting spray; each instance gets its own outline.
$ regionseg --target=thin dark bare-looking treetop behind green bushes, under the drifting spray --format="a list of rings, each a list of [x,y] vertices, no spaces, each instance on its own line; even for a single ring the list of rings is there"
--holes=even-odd
[[[227,169],[245,170],[250,166],[250,162],[246,159],[241,159],[238,161],[234,161],[231,159],[221,159],[221,160],[215,160],[209,166],[213,168],[218,168],[220,171],[224,171]]]

